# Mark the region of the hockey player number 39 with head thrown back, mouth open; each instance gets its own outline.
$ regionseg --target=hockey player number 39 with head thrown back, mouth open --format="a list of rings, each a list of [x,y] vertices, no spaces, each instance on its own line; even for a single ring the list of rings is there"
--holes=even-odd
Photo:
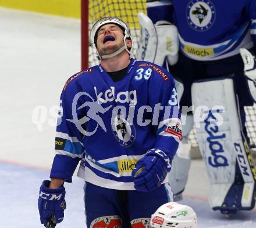
[[[38,199],[41,223],[62,222],[63,184],[80,162],[87,227],[145,227],[172,200],[168,172],[182,140],[175,81],[130,57],[133,39],[118,18],[98,20],[90,39],[101,64],[63,88],[51,181]]]

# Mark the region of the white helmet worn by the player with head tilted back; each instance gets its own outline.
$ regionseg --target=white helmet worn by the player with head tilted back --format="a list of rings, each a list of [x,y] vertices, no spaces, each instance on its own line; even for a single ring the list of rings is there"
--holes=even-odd
[[[120,28],[122,28],[123,33],[125,35],[125,37],[123,37],[123,42],[125,45],[110,55],[101,56],[101,55],[99,55],[98,50],[97,50],[97,37],[98,37],[97,32],[98,32],[99,28],[101,28],[105,24],[116,24]],[[127,38],[131,39],[131,48],[127,48],[127,46],[126,46],[125,41]],[[93,46],[93,48],[95,48],[97,51],[98,59],[108,59],[110,57],[118,55],[123,50],[126,50],[129,53],[129,55],[133,54],[133,38],[131,37],[130,28],[127,26],[127,24],[124,21],[122,21],[121,19],[118,19],[117,17],[103,17],[102,19],[99,19],[98,21],[96,21],[94,23],[93,27],[91,28],[90,42],[91,42],[91,45]]]

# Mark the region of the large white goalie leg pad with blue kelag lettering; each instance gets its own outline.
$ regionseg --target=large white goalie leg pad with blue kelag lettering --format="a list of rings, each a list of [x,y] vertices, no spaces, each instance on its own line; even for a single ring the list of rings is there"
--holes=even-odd
[[[252,209],[256,170],[241,131],[233,79],[196,82],[191,93],[197,140],[211,182],[211,207],[223,213]],[[239,172],[242,179],[236,183]]]

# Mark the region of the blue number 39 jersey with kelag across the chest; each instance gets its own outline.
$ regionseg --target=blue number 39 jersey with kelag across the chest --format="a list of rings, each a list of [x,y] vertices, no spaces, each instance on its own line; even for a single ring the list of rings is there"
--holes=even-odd
[[[80,161],[78,176],[87,182],[134,190],[136,162],[150,149],[172,160],[182,140],[174,79],[146,61],[131,59],[117,82],[101,65],[73,75],[63,88],[61,108],[50,177],[66,182],[72,182]]]

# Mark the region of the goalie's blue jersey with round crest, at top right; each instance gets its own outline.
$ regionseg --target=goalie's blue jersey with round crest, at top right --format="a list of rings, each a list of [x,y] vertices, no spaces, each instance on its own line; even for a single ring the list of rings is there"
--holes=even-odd
[[[256,44],[254,0],[148,1],[148,16],[173,22],[180,49],[195,60],[218,60],[237,55]]]

